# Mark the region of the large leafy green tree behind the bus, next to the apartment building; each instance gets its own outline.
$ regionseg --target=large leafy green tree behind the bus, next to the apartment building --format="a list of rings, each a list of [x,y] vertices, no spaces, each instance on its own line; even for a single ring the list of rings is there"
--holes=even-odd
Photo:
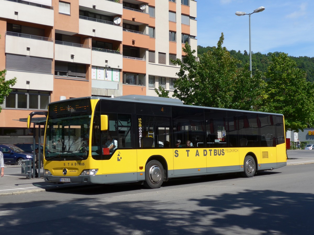
[[[180,65],[179,77],[175,81],[173,97],[179,98],[185,104],[234,108],[250,110],[257,109],[263,103],[263,89],[265,83],[261,72],[250,77],[248,65],[243,69],[238,68],[240,60],[230,56],[230,52],[222,47],[224,34],[222,33],[217,47],[208,50],[195,60],[195,50],[185,44],[183,51],[186,56],[183,63],[180,59],[174,64]]]

